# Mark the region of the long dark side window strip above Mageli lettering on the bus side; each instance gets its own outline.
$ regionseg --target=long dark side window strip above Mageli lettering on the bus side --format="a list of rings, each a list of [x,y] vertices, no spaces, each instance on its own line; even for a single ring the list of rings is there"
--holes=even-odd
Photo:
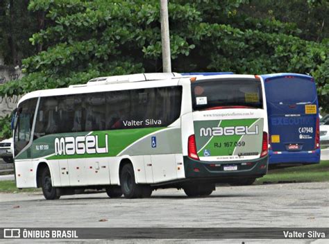
[[[182,87],[44,97],[34,138],[47,134],[167,126],[180,116]]]

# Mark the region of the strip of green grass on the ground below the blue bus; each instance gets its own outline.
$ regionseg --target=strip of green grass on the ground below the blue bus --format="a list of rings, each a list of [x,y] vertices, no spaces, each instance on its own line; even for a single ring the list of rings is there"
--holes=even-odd
[[[328,182],[329,161],[320,164],[281,168],[269,171],[267,175],[256,180],[256,184],[263,182]]]

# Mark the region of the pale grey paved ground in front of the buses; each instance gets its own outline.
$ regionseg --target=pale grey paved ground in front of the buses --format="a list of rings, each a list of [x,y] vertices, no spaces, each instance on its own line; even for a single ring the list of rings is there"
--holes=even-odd
[[[1,193],[0,216],[0,227],[329,227],[329,182],[222,186],[208,198],[176,189],[133,200]]]

